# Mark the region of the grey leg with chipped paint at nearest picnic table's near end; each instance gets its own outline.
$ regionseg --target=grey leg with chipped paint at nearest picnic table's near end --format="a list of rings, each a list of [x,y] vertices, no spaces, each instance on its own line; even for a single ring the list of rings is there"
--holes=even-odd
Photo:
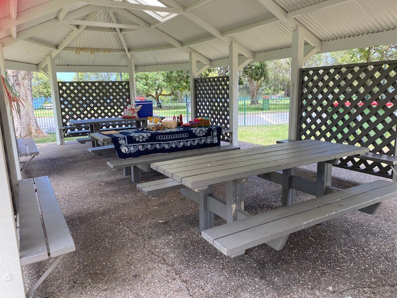
[[[226,181],[226,222],[237,221],[237,211],[244,211],[244,185],[236,180]]]

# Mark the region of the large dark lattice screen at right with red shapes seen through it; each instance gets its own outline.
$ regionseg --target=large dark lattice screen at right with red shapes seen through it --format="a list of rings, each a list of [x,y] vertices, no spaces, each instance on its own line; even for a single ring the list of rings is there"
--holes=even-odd
[[[299,138],[395,155],[397,61],[301,70]],[[385,163],[348,157],[338,166],[391,177]]]

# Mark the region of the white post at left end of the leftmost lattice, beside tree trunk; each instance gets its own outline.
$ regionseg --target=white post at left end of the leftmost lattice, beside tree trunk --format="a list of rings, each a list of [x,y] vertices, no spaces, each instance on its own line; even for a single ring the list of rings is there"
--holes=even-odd
[[[58,80],[57,80],[57,70],[51,55],[48,57],[48,75],[50,78],[51,87],[51,98],[53,100],[53,111],[54,111],[54,124],[55,124],[55,134],[57,136],[57,144],[64,145],[64,134],[61,134],[62,124],[62,113],[61,113],[61,100],[59,98]]]

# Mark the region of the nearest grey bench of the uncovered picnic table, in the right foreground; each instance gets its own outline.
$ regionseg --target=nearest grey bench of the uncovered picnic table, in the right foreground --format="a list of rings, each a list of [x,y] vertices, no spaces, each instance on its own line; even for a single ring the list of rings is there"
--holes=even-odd
[[[396,183],[378,180],[210,228],[201,235],[226,256],[263,243],[279,250],[290,233],[356,210],[373,213],[378,204],[396,195]]]

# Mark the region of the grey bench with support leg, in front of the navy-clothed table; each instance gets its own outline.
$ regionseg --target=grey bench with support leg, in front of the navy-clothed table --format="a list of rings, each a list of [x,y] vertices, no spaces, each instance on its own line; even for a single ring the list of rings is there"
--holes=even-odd
[[[152,162],[167,161],[167,160],[178,159],[183,157],[199,156],[204,154],[237,150],[237,149],[240,148],[232,145],[226,145],[226,146],[216,146],[216,147],[200,148],[200,149],[177,151],[170,153],[149,154],[139,157],[108,161],[108,166],[110,166],[112,169],[115,170],[124,169],[124,174],[126,176],[128,175],[132,176],[133,183],[139,183],[142,181],[142,172],[149,172],[150,163]]]

